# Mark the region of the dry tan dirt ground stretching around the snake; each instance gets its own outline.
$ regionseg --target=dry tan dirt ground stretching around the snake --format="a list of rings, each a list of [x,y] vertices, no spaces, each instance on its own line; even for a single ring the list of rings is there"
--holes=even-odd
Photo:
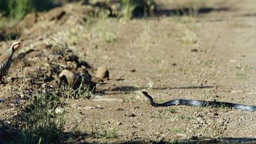
[[[70,143],[255,142],[255,112],[225,107],[152,107],[140,93],[148,91],[159,103],[182,98],[256,105],[256,1],[208,2],[212,10],[199,11],[196,17],[85,20],[83,15],[89,10],[76,9],[74,3],[65,7],[66,13],[60,19],[56,10],[58,16],[46,15],[49,20],[38,19],[31,26],[22,21],[20,39],[25,48],[15,54],[17,61],[9,76],[30,75],[24,72],[25,66],[27,71],[51,67],[47,63],[51,54],[45,50],[49,45],[71,49],[79,60],[90,64],[92,69],[88,70],[93,76],[99,66],[108,68],[109,79],[97,83],[91,99],[65,99],[65,131],[75,129],[82,133],[77,139],[67,140]],[[166,10],[179,5],[165,0],[157,3]],[[11,43],[1,42],[1,52]],[[29,49],[34,51],[30,53]],[[20,53],[27,55],[19,58]],[[41,57],[36,56],[39,53]],[[56,58],[55,62],[62,61]],[[74,66],[72,70],[77,69]],[[58,79],[58,75],[52,77]],[[0,91],[5,95],[0,98],[7,98],[13,91],[26,96],[27,91],[33,93],[22,89],[26,84],[38,90],[43,84],[28,81],[33,80],[19,76],[1,85]],[[49,87],[56,85],[45,83]],[[1,105],[0,114],[6,121],[21,107]]]

